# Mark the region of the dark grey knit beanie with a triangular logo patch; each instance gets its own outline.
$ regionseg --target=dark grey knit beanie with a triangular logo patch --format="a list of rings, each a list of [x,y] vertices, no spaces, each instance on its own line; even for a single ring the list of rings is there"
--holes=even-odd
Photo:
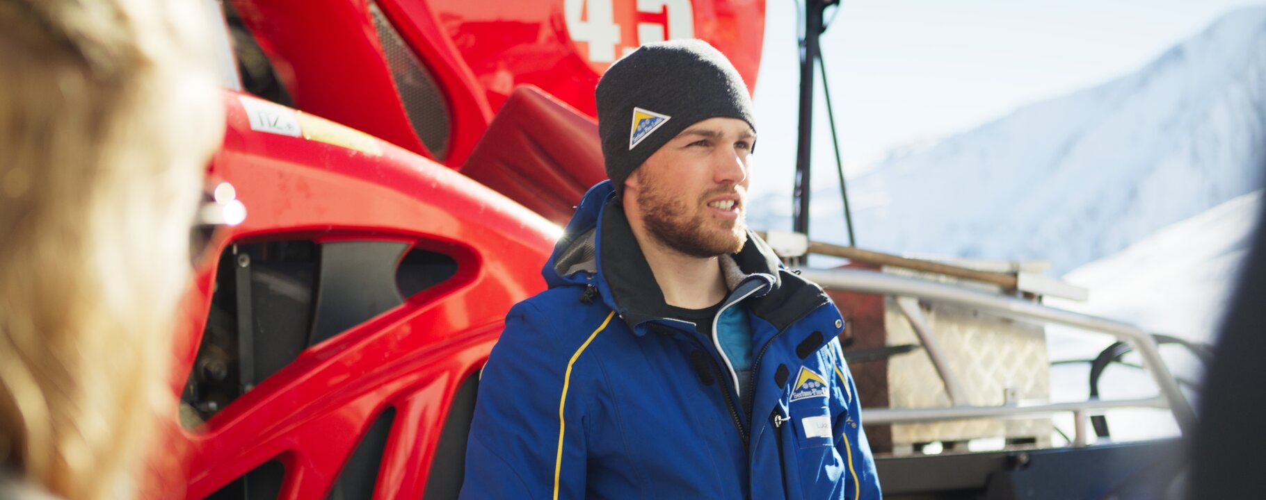
[[[639,47],[606,69],[594,96],[606,177],[620,193],[633,170],[690,125],[733,117],[756,130],[743,77],[704,40]]]

